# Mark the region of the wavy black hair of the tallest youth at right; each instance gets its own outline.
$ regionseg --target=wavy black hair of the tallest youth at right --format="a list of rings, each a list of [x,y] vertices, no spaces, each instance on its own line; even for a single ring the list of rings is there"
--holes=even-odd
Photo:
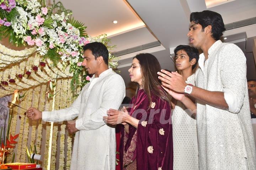
[[[202,26],[202,31],[207,26],[212,26],[212,37],[214,40],[219,40],[226,30],[222,16],[214,11],[205,10],[202,12],[192,12],[190,14],[190,22],[200,24]]]

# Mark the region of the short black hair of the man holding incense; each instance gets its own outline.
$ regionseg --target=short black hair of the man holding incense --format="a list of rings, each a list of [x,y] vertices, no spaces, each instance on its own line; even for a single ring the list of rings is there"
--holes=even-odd
[[[108,49],[101,42],[88,43],[84,46],[83,49],[84,49],[84,51],[85,50],[91,50],[92,55],[95,56],[95,60],[96,60],[96,58],[102,56],[105,64],[108,65]]]

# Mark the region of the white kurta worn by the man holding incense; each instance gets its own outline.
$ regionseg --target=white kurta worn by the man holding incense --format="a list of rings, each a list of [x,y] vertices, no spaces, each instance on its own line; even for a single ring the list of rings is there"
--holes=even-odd
[[[71,107],[43,112],[44,121],[73,120],[76,117],[71,170],[114,170],[116,168],[115,128],[105,124],[107,110],[118,109],[125,96],[122,77],[112,69],[91,78]],[[107,167],[105,168],[105,165]]]

